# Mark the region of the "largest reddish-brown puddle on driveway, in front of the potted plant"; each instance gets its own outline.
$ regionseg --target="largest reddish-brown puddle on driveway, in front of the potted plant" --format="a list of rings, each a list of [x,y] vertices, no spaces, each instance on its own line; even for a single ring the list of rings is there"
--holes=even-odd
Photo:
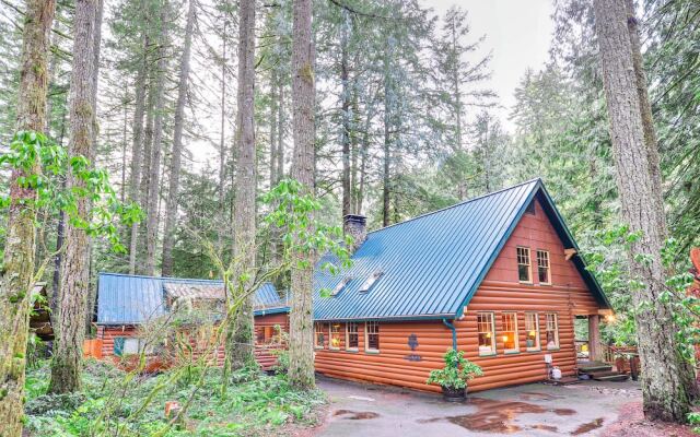
[[[522,414],[553,413],[559,416],[571,416],[576,414],[575,410],[571,409],[549,409],[542,405],[520,401],[493,401],[483,398],[470,398],[469,403],[478,408],[476,413],[460,416],[435,417],[427,421],[420,421],[420,423],[447,421],[471,432],[494,434],[513,434],[522,430],[523,427],[527,429],[542,429],[556,433],[558,429],[555,426],[542,424],[516,425],[514,421]],[[599,427],[602,423],[603,420],[600,420],[597,427]],[[580,428],[583,427],[584,425]],[[579,434],[587,433],[591,429],[595,429],[595,427],[586,428],[586,430],[580,432]],[[579,429],[576,429],[576,432],[579,432]]]

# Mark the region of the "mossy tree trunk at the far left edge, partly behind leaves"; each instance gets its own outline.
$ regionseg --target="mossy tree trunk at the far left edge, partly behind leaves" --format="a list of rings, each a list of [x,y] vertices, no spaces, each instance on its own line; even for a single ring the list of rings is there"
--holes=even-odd
[[[26,1],[18,90],[18,130],[43,131],[46,127],[48,34],[55,10],[54,0]],[[20,187],[18,179],[38,172],[38,163],[34,163],[28,172],[18,169],[10,176],[11,204],[0,277],[0,424],[3,437],[22,435],[36,236],[36,212],[32,206],[36,191]]]

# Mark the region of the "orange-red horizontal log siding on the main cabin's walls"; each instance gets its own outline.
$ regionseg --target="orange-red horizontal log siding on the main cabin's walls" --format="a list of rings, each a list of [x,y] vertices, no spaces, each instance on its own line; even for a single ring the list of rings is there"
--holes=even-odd
[[[516,247],[530,248],[533,284],[521,284],[517,277]],[[548,250],[551,285],[539,284],[537,277],[537,249]],[[549,223],[539,203],[535,215],[525,214],[511,238],[493,263],[479,290],[468,305],[465,317],[455,321],[457,345],[468,359],[479,364],[483,376],[469,383],[469,390],[480,391],[498,387],[541,381],[547,378],[545,355],[551,354],[553,365],[563,375],[575,371],[574,315],[597,314],[598,305],[581,275],[564,257],[564,247]],[[494,314],[497,355],[478,354],[477,312]],[[503,311],[516,311],[520,352],[505,354],[502,342]],[[525,312],[539,315],[540,351],[527,352],[525,344]],[[559,350],[547,351],[545,314],[556,312],[559,321]],[[316,370],[337,378],[409,387],[418,390],[440,391],[427,386],[430,370],[443,367],[442,355],[452,347],[452,332],[441,321],[381,322],[380,353],[364,352],[364,323],[360,323],[359,352],[345,351],[345,324],[340,351],[328,350],[328,323],[324,323],[326,342],[316,350]],[[416,334],[419,346],[411,351],[408,336]],[[420,362],[407,356],[416,354]]]

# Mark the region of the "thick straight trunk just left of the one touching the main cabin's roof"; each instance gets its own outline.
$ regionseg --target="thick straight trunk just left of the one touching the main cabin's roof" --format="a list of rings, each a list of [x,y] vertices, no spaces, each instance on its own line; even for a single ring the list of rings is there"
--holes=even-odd
[[[236,117],[236,182],[234,210],[234,255],[241,259],[238,275],[255,271],[255,0],[238,5],[238,113]],[[237,280],[237,279],[236,279]],[[252,279],[250,279],[252,280]],[[246,281],[245,288],[250,284]],[[237,311],[228,344],[232,369],[255,363],[250,295]]]

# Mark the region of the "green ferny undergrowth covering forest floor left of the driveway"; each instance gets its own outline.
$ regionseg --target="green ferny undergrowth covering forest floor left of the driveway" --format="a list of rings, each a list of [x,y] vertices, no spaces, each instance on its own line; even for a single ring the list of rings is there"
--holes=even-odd
[[[81,391],[56,395],[46,394],[50,368],[42,362],[27,370],[25,436],[156,435],[167,425],[167,401],[184,408],[191,400],[185,420],[167,437],[305,435],[325,414],[323,392],[294,391],[284,376],[234,374],[225,397],[219,368],[200,376],[196,367],[177,375],[132,376],[89,361]]]

